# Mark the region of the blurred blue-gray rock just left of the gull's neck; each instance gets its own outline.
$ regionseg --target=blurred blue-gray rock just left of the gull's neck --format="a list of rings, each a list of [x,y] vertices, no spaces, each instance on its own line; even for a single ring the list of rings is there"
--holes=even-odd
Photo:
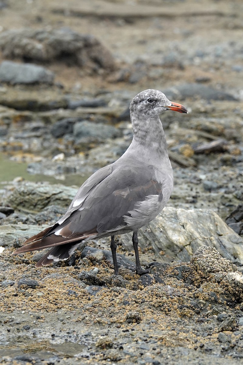
[[[73,133],[75,138],[92,137],[99,141],[106,138],[115,138],[121,135],[121,132],[113,127],[102,123],[92,123],[87,120],[74,124]]]

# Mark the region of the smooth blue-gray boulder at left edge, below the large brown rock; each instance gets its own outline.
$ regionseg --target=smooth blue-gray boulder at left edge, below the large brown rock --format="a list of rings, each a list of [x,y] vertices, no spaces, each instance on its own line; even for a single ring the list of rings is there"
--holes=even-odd
[[[10,84],[52,84],[54,73],[42,66],[32,64],[18,64],[3,61],[0,65],[0,81]]]

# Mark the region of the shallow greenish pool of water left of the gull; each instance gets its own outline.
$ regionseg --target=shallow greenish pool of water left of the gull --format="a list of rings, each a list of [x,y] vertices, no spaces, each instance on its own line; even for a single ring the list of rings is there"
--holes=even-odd
[[[63,185],[81,186],[89,176],[81,176],[78,174],[68,174],[60,176],[48,176],[43,174],[32,175],[27,172],[27,162],[11,161],[4,154],[0,153],[0,183],[12,181],[16,177],[23,177],[28,181],[48,181],[50,184],[61,183]]]

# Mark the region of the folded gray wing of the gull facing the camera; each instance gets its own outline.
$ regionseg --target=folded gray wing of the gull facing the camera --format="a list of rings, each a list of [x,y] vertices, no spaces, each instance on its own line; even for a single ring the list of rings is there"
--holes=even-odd
[[[106,166],[82,185],[67,213],[58,221],[59,226],[49,231],[48,236],[55,233],[59,238],[75,238],[125,227],[124,216],[129,215],[134,205],[150,195],[161,200],[161,190],[152,167],[126,166],[113,170],[112,165]]]

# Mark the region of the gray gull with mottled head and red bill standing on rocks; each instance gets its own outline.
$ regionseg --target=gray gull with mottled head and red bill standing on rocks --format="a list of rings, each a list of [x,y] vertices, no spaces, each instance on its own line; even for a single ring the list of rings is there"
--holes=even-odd
[[[137,231],[161,212],[173,188],[159,118],[166,110],[188,113],[158,90],[148,89],[135,96],[130,104],[133,140],[126,152],[83,183],[58,222],[28,239],[13,254],[52,247],[37,262],[36,267],[41,267],[66,260],[81,241],[111,236],[114,271],[118,274],[114,235],[133,231],[136,272],[148,273],[140,266]]]

